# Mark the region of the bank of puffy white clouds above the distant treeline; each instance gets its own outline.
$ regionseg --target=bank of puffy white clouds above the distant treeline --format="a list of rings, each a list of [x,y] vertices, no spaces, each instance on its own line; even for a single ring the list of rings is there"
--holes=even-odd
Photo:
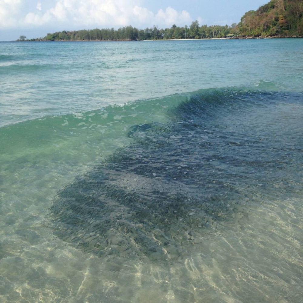
[[[172,7],[151,12],[140,0],[0,0],[0,27],[67,29],[133,25],[171,27],[192,22],[190,14]]]

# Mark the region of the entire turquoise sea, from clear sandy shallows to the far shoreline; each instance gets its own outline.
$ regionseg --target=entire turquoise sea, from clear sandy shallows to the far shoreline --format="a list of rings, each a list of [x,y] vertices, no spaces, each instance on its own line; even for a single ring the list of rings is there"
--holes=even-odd
[[[1,302],[302,302],[303,40],[0,42]]]

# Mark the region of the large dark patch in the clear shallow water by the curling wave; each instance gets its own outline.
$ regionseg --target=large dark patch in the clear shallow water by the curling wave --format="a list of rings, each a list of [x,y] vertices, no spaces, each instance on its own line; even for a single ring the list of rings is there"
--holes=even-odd
[[[167,123],[133,125],[130,145],[58,192],[54,235],[100,256],[178,260],[243,203],[299,197],[302,96],[203,90]]]

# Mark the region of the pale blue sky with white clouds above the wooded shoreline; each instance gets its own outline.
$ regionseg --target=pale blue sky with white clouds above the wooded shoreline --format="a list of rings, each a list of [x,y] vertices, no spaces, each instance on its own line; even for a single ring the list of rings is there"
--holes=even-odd
[[[132,25],[138,29],[231,25],[269,0],[0,0],[0,41]]]

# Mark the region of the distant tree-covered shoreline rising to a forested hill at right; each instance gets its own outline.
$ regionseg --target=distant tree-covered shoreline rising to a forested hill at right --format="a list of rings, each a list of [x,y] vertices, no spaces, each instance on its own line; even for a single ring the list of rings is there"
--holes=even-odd
[[[21,35],[17,41],[132,41],[159,39],[210,39],[210,38],[285,38],[303,37],[303,1],[271,0],[256,11],[248,11],[241,21],[232,25],[201,25],[193,21],[190,26],[172,25],[171,28],[138,29],[124,26],[114,28],[62,31],[48,33],[44,38],[26,39]]]

